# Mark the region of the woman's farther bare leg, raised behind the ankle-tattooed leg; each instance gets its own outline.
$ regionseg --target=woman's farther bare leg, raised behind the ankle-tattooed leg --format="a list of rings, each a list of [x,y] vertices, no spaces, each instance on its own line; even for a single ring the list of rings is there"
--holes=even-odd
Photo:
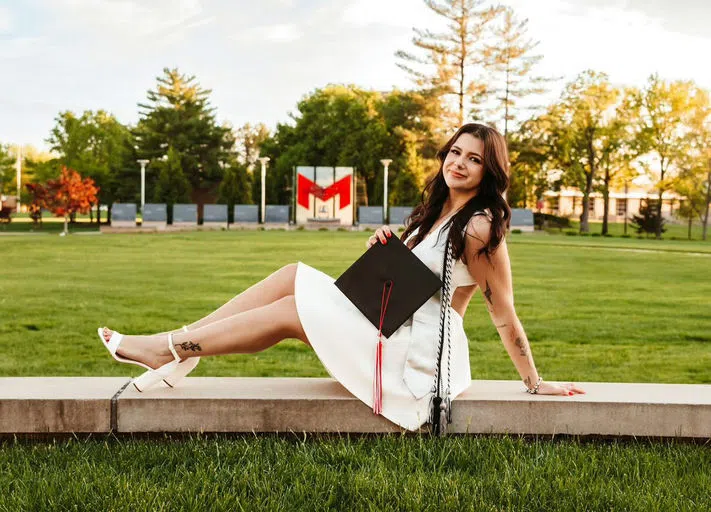
[[[200,320],[188,324],[188,330],[193,331],[218,320],[271,304],[287,295],[294,295],[294,281],[296,279],[296,263],[285,265],[273,272],[258,283],[250,286],[245,291],[230,299],[227,303]],[[179,334],[182,329],[166,331],[158,334]]]

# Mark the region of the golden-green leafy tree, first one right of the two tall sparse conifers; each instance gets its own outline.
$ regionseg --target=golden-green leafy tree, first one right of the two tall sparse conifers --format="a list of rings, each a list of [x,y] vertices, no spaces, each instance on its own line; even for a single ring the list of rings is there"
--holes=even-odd
[[[601,160],[613,145],[614,106],[619,96],[606,74],[586,71],[566,86],[561,101],[551,108],[552,156],[564,170],[563,183],[583,191],[581,233],[590,230],[588,198]]]

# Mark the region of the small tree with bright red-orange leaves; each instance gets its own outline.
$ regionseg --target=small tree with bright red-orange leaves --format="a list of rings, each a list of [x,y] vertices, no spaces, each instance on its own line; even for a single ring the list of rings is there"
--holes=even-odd
[[[64,217],[64,235],[69,233],[69,217],[76,213],[88,213],[96,203],[99,190],[91,178],[82,179],[73,169],[62,168],[57,180],[50,180],[43,192],[45,207],[54,215]]]

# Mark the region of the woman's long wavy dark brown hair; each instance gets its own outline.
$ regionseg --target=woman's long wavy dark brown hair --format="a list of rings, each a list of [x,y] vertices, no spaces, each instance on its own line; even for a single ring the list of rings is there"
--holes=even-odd
[[[417,235],[408,244],[410,248],[415,247],[422,242],[425,235],[430,232],[434,223],[439,219],[444,202],[449,196],[449,187],[444,180],[442,170],[444,159],[452,145],[463,133],[469,133],[484,143],[484,154],[482,155],[484,177],[479,184],[477,194],[447,221],[447,225],[450,226],[449,240],[452,244],[452,255],[455,261],[464,256],[465,227],[475,212],[488,208],[491,212],[489,242],[477,251],[477,256],[484,254],[487,259],[490,259],[506,236],[511,222],[511,208],[504,198],[504,193],[509,187],[509,156],[504,137],[495,129],[483,124],[465,124],[437,152],[439,170],[425,185],[425,189],[422,191],[422,202],[406,219],[402,240],[405,240],[415,229],[420,228]],[[443,226],[440,233],[445,227]],[[466,256],[463,257],[463,260],[466,263]]]

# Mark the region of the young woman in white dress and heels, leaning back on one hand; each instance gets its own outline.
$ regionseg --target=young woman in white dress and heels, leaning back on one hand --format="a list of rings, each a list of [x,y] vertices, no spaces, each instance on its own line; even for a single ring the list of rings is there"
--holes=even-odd
[[[514,310],[505,235],[511,210],[506,142],[481,124],[459,128],[438,153],[440,168],[427,183],[422,203],[407,221],[403,241],[436,274],[442,274],[445,242],[452,247],[450,306],[451,398],[471,383],[468,341],[462,326],[469,301],[481,289],[492,322],[530,393],[573,395],[573,383],[543,381]],[[367,246],[387,244],[388,226]],[[288,338],[313,347],[328,373],[373,407],[374,352],[378,330],[333,284],[330,276],[302,263],[287,265],[182,330],[123,336],[100,328],[99,336],[121,362],[149,371],[134,380],[139,391],[163,380],[174,386],[200,356],[265,350]],[[383,343],[381,414],[416,430],[429,418],[439,343],[441,294],[435,294]],[[448,353],[447,353],[448,352]],[[523,391],[523,389],[522,389]]]

